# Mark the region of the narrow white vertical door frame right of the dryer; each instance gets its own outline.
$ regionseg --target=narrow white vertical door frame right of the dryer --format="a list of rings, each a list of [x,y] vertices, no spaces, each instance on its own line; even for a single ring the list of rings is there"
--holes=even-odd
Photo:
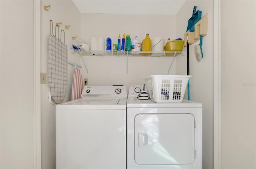
[[[214,169],[221,169],[221,0],[214,0]]]

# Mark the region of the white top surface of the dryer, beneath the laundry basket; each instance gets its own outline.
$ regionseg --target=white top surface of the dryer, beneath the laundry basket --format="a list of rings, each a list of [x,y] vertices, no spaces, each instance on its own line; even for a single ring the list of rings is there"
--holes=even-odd
[[[182,103],[155,103],[150,99],[139,100],[136,97],[128,97],[127,107],[202,107],[202,103],[185,99],[183,99]]]

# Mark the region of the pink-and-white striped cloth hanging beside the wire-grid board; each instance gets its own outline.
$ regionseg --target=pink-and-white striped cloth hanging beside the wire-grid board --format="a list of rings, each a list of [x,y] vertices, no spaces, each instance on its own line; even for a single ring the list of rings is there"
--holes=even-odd
[[[84,88],[82,75],[80,69],[74,69],[74,77],[73,77],[73,84],[72,84],[72,92],[70,100],[75,100],[81,98],[81,94]]]

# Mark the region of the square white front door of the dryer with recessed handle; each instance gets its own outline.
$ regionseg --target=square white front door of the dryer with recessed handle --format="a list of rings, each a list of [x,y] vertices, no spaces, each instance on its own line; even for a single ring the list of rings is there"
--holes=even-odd
[[[139,165],[191,164],[195,160],[192,114],[138,114],[135,161]]]

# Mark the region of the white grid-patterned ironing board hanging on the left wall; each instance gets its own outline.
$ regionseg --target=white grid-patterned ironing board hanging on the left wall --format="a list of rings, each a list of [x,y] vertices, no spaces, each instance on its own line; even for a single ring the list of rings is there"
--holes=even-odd
[[[67,45],[48,36],[48,85],[54,103],[62,103],[68,87]]]

